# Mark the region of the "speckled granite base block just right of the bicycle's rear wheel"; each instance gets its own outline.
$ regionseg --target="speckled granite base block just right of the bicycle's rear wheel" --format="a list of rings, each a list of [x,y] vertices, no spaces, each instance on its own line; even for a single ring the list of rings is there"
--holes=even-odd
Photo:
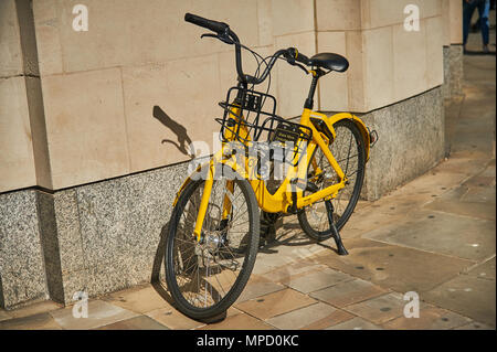
[[[379,140],[367,164],[363,196],[377,200],[433,168],[444,156],[442,88],[361,116]]]

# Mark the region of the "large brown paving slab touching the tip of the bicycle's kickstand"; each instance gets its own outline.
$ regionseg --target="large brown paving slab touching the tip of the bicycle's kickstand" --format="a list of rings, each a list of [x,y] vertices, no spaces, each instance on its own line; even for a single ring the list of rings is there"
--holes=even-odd
[[[474,264],[367,238],[343,242],[348,256],[322,253],[316,262],[398,292],[432,289]]]

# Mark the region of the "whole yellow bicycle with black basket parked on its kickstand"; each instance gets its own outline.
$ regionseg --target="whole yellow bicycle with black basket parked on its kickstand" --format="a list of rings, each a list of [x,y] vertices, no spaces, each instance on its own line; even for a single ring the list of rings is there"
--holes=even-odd
[[[351,114],[313,111],[318,79],[345,72],[345,57],[308,58],[294,47],[262,57],[226,23],[190,13],[184,20],[213,32],[202,38],[234,45],[237,71],[237,85],[220,103],[222,147],[178,191],[166,238],[168,289],[181,312],[202,320],[225,312],[244,289],[263,235],[261,214],[266,221],[297,214],[307,235],[334,237],[338,253],[347,254],[339,230],[359,200],[377,134]],[[243,73],[242,49],[260,63],[254,76]],[[276,99],[254,89],[268,76],[271,82],[277,60],[313,75],[298,124],[277,116]]]

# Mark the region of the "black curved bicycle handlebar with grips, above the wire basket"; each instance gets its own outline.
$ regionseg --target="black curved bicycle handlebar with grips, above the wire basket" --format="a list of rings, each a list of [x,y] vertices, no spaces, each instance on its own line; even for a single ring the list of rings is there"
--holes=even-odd
[[[266,79],[267,75],[269,74],[271,70],[273,68],[276,60],[279,56],[285,56],[286,61],[292,65],[300,66],[299,64],[296,64],[295,62],[303,63],[305,65],[309,65],[309,58],[298,53],[298,51],[295,47],[288,47],[288,49],[282,49],[278,50],[274,55],[271,57],[269,62],[267,63],[266,68],[264,70],[263,74],[257,79],[256,77],[245,75],[243,73],[242,67],[242,53],[241,53],[241,44],[240,40],[236,36],[236,34],[230,29],[230,25],[224,22],[218,22],[204,19],[200,15],[192,14],[192,13],[186,13],[184,14],[184,21],[197,24],[199,26],[205,28],[208,30],[211,30],[215,33],[218,33],[216,38],[225,43],[232,43],[235,45],[235,56],[236,56],[236,72],[239,74],[239,79],[244,84],[261,84]],[[212,35],[215,36],[215,35]],[[305,67],[300,66],[304,71]]]

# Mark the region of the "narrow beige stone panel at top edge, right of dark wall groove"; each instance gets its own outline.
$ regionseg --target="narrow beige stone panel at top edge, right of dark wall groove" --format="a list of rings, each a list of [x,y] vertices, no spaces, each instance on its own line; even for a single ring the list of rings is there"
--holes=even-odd
[[[38,0],[33,2],[34,29],[40,75],[63,72],[62,49],[59,31],[61,20],[57,0]]]

